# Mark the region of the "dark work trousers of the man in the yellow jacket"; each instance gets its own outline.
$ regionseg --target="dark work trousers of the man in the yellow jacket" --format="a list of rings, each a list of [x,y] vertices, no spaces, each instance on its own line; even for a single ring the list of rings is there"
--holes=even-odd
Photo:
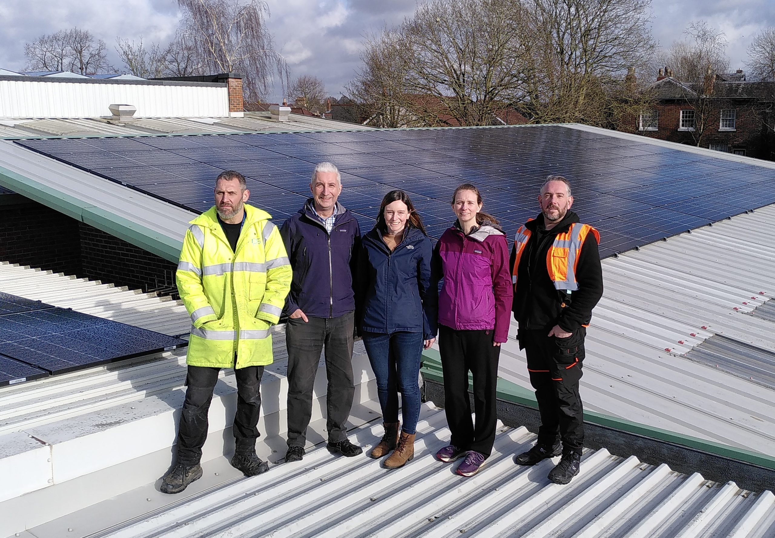
[[[188,366],[186,399],[177,429],[177,462],[191,467],[202,459],[202,446],[207,440],[207,413],[212,391],[221,368]],[[237,411],[232,432],[236,451],[253,451],[260,437],[258,418],[261,411],[260,383],[263,366],[248,366],[234,371],[237,380]]]

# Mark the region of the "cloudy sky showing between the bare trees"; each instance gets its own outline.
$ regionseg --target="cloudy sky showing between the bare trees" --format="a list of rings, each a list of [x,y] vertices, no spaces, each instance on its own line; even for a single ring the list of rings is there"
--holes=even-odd
[[[422,0],[421,0],[422,1]],[[411,15],[417,0],[268,0],[270,29],[292,75],[314,74],[339,95],[359,66],[363,36]],[[119,7],[120,6],[120,7]],[[166,42],[179,15],[174,0],[2,0],[0,68],[22,70],[24,43],[43,33],[79,26],[105,40],[113,63],[116,36]],[[725,32],[732,69],[744,68],[750,39],[775,26],[773,0],[653,0],[654,36],[663,47],[680,39],[688,22],[703,19]],[[271,101],[281,98],[279,89]],[[274,98],[273,98],[274,97]]]

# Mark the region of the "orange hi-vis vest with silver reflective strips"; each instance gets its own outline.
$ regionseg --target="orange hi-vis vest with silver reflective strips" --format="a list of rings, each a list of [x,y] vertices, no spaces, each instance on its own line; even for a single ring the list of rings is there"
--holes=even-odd
[[[532,220],[532,218],[529,219],[529,221]],[[554,238],[549,252],[546,252],[546,269],[549,271],[549,278],[552,279],[556,290],[576,291],[579,289],[579,283],[576,280],[576,266],[581,254],[581,246],[584,245],[584,239],[590,232],[599,244],[600,233],[589,224],[581,224],[580,222],[571,224],[568,231],[557,234]],[[512,283],[515,288],[519,260],[522,259],[522,252],[525,252],[525,246],[527,246],[529,239],[530,230],[525,226],[520,226],[514,238],[517,255],[512,268]]]

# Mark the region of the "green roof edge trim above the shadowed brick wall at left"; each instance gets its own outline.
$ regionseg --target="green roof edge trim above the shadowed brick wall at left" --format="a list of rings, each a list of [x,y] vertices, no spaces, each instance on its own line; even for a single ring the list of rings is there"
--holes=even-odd
[[[141,224],[112,214],[110,211],[95,207],[68,194],[60,193],[58,190],[2,166],[0,166],[0,185],[8,187],[30,200],[35,200],[53,210],[64,213],[77,221],[94,226],[110,235],[144,248],[148,252],[153,252],[153,254],[170,262],[177,263],[180,257],[182,241],[168,238]]]

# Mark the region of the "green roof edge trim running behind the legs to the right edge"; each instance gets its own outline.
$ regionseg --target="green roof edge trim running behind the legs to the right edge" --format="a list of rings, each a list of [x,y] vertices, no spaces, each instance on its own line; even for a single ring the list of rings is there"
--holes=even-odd
[[[422,368],[420,372],[432,381],[443,383],[444,378],[441,367],[441,358],[438,350],[428,349],[422,352]],[[500,377],[498,378],[498,398],[505,400],[506,402],[538,409],[536,396],[532,390],[525,389],[525,387]],[[649,437],[666,443],[677,444],[708,454],[729,457],[732,460],[759,465],[763,468],[775,469],[775,457],[761,454],[760,452],[748,451],[744,448],[730,447],[729,445],[716,443],[715,441],[682,435],[670,430],[663,430],[646,424],[632,422],[632,420],[622,419],[618,416],[606,415],[605,413],[595,413],[594,411],[585,410],[584,420],[589,423],[598,424],[598,426],[622,430],[627,433],[634,433],[642,437]]]

